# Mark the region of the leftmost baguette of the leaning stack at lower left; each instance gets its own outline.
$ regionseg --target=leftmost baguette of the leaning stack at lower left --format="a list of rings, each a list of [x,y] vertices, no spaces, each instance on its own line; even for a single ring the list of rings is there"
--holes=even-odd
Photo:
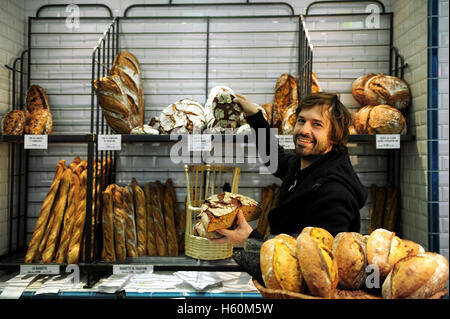
[[[52,185],[50,186],[50,190],[48,191],[44,203],[42,204],[41,211],[39,213],[39,218],[36,222],[33,235],[28,245],[28,250],[25,255],[25,263],[32,263],[35,260],[35,255],[38,250],[39,244],[41,243],[41,240],[44,237],[50,213],[52,210],[53,202],[55,201],[61,177],[65,170],[65,163],[66,163],[65,160],[61,160],[56,165],[56,171]]]

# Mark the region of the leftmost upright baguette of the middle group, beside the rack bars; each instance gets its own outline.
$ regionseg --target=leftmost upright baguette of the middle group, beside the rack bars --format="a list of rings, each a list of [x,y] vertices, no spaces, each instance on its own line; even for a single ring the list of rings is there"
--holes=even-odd
[[[109,185],[103,191],[103,250],[102,258],[106,262],[116,261],[114,249],[114,208],[113,208],[113,185]]]

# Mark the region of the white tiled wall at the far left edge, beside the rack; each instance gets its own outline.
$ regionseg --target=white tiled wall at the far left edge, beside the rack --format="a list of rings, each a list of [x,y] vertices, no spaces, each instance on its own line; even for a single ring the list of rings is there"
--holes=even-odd
[[[24,49],[24,1],[2,0],[0,10],[0,117],[11,109],[12,66]],[[8,144],[0,143],[0,255],[8,252]]]

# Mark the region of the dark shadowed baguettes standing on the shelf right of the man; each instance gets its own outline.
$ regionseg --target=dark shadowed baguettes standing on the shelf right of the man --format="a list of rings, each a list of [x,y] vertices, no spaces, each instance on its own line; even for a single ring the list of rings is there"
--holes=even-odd
[[[400,190],[391,184],[386,187],[370,186],[372,205],[370,206],[369,233],[377,228],[394,231],[397,221]]]

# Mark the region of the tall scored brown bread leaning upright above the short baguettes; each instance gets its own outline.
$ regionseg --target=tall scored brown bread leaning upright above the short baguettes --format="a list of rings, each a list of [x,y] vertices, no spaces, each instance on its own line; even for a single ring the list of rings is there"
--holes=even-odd
[[[141,67],[137,58],[126,51],[113,61],[110,76],[94,81],[108,125],[119,134],[129,134],[144,124],[144,92]]]

